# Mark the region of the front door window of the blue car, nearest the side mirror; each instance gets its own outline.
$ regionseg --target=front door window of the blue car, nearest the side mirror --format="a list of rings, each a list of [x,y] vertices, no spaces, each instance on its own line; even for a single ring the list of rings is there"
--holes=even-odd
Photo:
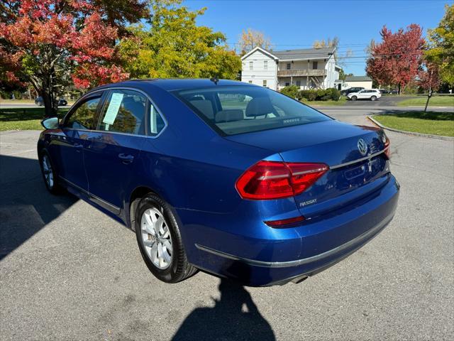
[[[80,130],[92,130],[96,127],[96,109],[101,95],[91,97],[77,104],[77,108],[65,121],[65,127]]]

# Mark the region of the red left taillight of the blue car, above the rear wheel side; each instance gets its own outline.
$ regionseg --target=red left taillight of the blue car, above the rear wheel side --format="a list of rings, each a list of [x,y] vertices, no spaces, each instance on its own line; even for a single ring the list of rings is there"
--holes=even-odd
[[[328,171],[324,163],[259,161],[236,181],[243,199],[270,200],[298,195]]]

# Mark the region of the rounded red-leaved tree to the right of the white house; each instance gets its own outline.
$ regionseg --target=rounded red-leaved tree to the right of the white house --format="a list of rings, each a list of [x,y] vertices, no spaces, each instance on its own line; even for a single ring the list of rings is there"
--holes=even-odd
[[[367,60],[367,75],[380,85],[397,85],[399,94],[409,84],[421,67],[423,46],[422,29],[412,23],[404,31],[392,33],[386,26],[380,31],[382,43],[372,43]]]

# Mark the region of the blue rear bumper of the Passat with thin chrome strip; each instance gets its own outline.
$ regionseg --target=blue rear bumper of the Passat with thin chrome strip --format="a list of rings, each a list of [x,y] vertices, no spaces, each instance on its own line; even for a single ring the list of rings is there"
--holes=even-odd
[[[275,236],[266,239],[261,234],[255,239],[242,238],[213,229],[209,238],[192,239],[196,242],[187,246],[192,250],[189,261],[249,286],[301,281],[360,249],[389,224],[397,207],[399,184],[391,175],[377,192],[367,203],[341,215],[297,228],[275,229]],[[220,242],[214,241],[216,235]]]

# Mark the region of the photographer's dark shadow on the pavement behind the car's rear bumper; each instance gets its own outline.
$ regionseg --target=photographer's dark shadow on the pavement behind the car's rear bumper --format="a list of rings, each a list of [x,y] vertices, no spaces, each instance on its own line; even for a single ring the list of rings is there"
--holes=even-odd
[[[270,323],[240,283],[222,278],[219,291],[214,308],[194,309],[172,340],[276,340]]]

